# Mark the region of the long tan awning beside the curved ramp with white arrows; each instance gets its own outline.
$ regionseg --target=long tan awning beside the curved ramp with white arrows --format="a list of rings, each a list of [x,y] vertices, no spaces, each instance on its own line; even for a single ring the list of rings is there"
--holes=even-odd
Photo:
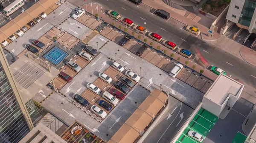
[[[153,90],[108,143],[133,143],[155,115],[163,108],[168,96]]]

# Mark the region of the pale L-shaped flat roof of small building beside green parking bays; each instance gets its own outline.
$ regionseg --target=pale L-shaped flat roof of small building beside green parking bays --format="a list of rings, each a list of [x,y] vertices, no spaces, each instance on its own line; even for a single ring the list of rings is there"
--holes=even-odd
[[[230,93],[236,96],[243,87],[244,85],[240,82],[221,73],[204,97],[221,105]]]

